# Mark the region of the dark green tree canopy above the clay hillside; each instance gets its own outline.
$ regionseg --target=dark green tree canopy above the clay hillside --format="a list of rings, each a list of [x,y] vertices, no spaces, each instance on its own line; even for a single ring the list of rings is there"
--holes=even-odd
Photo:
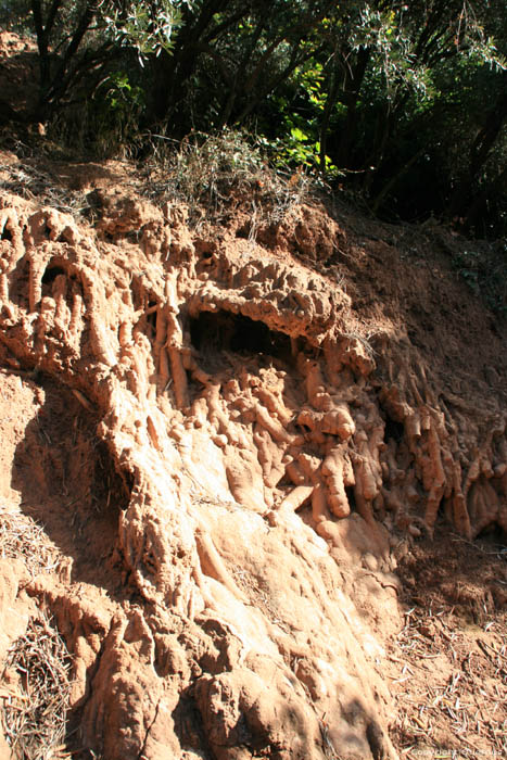
[[[37,39],[30,118],[77,119],[88,148],[240,127],[379,214],[506,232],[505,0],[2,0],[0,16]]]

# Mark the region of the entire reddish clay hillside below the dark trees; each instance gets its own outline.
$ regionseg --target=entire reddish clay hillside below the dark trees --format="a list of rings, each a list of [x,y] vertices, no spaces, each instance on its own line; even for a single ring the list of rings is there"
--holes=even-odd
[[[3,138],[0,758],[506,757],[494,245]]]

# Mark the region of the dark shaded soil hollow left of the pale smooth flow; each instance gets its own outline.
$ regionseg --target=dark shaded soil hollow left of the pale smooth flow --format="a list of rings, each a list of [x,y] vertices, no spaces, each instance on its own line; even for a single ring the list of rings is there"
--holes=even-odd
[[[45,404],[16,448],[12,486],[22,494],[23,512],[72,558],[71,580],[122,596],[111,558],[119,510],[128,505],[125,485],[97,438],[98,418],[69,389],[46,377],[39,384]]]

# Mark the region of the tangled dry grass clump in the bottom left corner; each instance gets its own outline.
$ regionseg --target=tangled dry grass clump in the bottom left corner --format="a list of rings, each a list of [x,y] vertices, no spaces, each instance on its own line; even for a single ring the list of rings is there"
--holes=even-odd
[[[20,760],[69,757],[63,744],[71,693],[69,656],[51,621],[39,615],[9,649],[3,669],[3,732]]]

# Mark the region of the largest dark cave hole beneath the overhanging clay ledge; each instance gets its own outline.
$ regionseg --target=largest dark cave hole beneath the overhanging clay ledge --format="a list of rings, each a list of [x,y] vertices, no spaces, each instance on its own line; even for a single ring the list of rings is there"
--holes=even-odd
[[[288,335],[270,330],[262,321],[225,311],[201,312],[191,319],[190,339],[200,352],[268,354],[286,360],[291,357],[291,341]]]

